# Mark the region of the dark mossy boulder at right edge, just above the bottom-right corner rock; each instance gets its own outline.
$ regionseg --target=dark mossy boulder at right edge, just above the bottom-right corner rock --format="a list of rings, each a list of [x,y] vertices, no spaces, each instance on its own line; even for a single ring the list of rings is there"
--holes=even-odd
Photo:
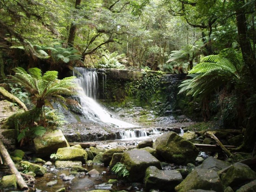
[[[256,173],[243,163],[235,163],[225,173],[221,174],[224,187],[230,186],[234,191],[255,179]]]

